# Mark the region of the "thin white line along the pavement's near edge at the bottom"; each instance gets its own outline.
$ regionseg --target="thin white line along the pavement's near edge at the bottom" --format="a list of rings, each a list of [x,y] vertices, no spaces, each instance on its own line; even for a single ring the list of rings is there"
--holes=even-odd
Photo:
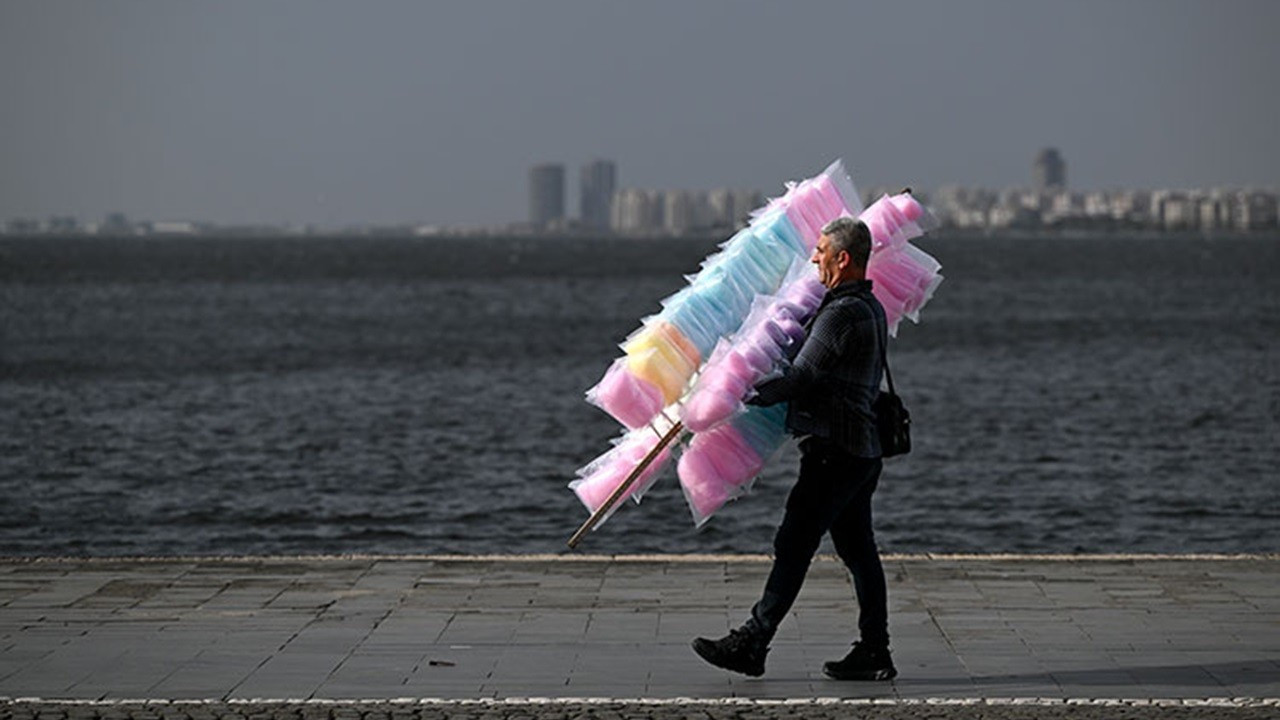
[[[155,700],[155,698],[113,698],[113,700],[77,700],[77,698],[40,698],[40,697],[0,697],[0,706],[4,705],[49,705],[49,706],[81,706],[81,707],[127,707],[127,706],[152,706],[152,707],[200,707],[210,705],[221,706],[259,706],[259,705],[305,705],[305,706],[379,706],[379,707],[413,707],[413,706],[475,706],[475,707],[509,707],[509,706],[568,706],[568,705],[636,705],[636,706],[744,706],[744,707],[777,707],[777,706],[892,706],[892,707],[1280,707],[1280,698],[1275,697],[1201,697],[1201,698],[1084,698],[1084,697],[984,697],[984,698],[955,698],[955,697],[923,697],[923,698],[844,698],[844,697],[804,697],[804,698],[751,698],[751,697],[502,697],[502,698],[367,698],[367,700],[334,700],[334,698],[232,698],[232,700]]]

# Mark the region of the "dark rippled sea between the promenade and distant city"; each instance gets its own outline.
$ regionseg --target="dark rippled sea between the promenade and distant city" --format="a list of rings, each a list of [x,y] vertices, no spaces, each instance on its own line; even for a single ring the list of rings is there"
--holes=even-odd
[[[1280,550],[1280,236],[919,245],[882,551]],[[0,555],[571,552],[584,391],[714,247],[0,238]],[[797,461],[700,528],[668,468],[577,552],[769,552]]]

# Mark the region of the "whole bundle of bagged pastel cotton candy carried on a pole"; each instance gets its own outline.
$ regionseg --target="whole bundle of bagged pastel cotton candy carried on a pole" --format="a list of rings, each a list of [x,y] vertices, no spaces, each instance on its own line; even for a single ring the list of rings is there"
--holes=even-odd
[[[859,217],[872,229],[868,277],[891,327],[902,316],[918,319],[941,281],[937,263],[909,242],[931,227],[924,208],[899,195],[864,210],[838,160],[787,183],[686,277],[687,287],[641,320],[621,345],[623,355],[588,391],[591,404],[631,428],[570,483],[588,510],[599,510],[659,438],[675,437],[676,416],[694,433],[677,474],[696,524],[750,487],[782,443],[786,405],[744,401],[804,342],[804,322],[827,291],[809,259],[822,228],[840,217]],[[639,501],[669,457],[663,448],[626,495]]]

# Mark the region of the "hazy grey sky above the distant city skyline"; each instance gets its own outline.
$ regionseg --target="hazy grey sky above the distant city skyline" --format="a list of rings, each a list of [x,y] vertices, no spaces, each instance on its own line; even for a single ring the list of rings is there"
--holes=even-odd
[[[0,4],[0,218],[495,223],[527,168],[1280,186],[1280,3]]]

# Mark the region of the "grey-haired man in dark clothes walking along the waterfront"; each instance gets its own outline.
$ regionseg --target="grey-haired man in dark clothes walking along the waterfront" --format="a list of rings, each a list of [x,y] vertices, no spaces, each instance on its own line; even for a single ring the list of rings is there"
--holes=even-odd
[[[852,218],[822,228],[813,263],[827,297],[785,374],[760,384],[756,405],[790,401],[787,429],[801,438],[800,475],[787,497],[773,541],[774,560],[751,618],[728,635],[698,638],[694,651],[735,673],[764,674],[764,657],[790,611],[822,536],[831,533],[858,594],[861,635],[849,655],[823,665],[838,680],[887,680],[897,675],[888,651],[884,570],[872,532],[872,493],[881,474],[881,447],[872,401],[879,391],[888,340],[884,309],[867,279],[870,232]]]

